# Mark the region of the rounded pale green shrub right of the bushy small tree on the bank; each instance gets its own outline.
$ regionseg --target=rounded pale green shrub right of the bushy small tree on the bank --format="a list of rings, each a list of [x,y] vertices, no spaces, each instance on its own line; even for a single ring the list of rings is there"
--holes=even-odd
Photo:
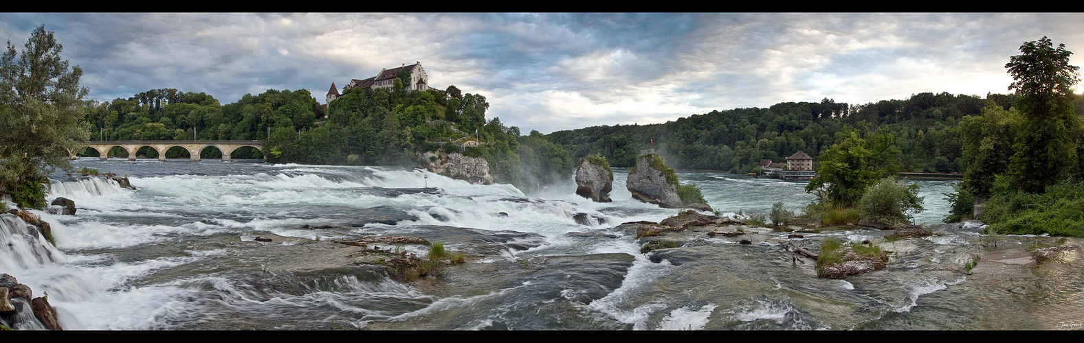
[[[859,208],[866,220],[895,225],[922,211],[922,197],[918,196],[918,184],[904,185],[894,179],[885,179],[866,189]]]

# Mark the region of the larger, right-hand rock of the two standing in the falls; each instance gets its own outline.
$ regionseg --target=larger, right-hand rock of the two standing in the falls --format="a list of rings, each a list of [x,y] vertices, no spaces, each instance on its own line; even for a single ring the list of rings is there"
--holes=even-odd
[[[682,207],[678,196],[678,173],[662,163],[658,154],[636,156],[636,166],[629,169],[625,188],[636,200],[655,203],[666,209]]]

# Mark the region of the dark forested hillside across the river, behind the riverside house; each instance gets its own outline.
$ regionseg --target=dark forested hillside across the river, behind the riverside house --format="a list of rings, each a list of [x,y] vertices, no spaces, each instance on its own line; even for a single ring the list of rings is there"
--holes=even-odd
[[[852,131],[881,132],[891,134],[901,149],[901,171],[963,172],[967,157],[962,154],[959,120],[978,116],[989,104],[1007,110],[1016,97],[919,93],[865,105],[825,98],[712,110],[660,124],[557,131],[547,137],[575,159],[597,154],[614,167],[631,167],[641,149],[654,147],[678,168],[746,173],[761,159],[784,162],[798,150],[816,158]],[[1084,102],[1077,98],[1076,104],[1077,113],[1084,113]]]

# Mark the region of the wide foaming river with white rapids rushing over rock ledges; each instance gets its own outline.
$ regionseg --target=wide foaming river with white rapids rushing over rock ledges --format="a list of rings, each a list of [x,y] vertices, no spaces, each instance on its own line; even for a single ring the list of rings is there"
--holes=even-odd
[[[571,181],[525,194],[509,185],[472,185],[389,167],[96,158],[74,164],[127,175],[139,189],[56,174],[49,200],[66,197],[78,208],[75,215],[42,215],[54,223],[56,248],[11,245],[0,255],[0,273],[36,294],[47,291],[69,330],[899,330],[1084,324],[1084,274],[1076,254],[1042,271],[1034,263],[1023,266],[1031,276],[1022,274],[1016,283],[990,277],[1005,268],[993,262],[972,275],[963,267],[967,261],[1002,249],[980,247],[977,226],[934,226],[938,236],[886,242],[882,247],[899,252],[888,268],[847,280],[816,278],[812,261],[795,264],[778,245],[787,233],[752,234],[751,246],[688,236],[679,248],[643,254],[635,233],[615,226],[658,222],[678,210],[632,200],[622,169],[614,171],[614,201],[596,203],[576,196]],[[802,182],[706,171],[679,176],[699,185],[723,215],[767,213],[776,201],[800,213],[812,199]],[[926,210],[916,223],[941,223],[947,214],[941,194],[955,182],[917,181]],[[586,213],[589,222],[578,224],[578,213]],[[815,247],[824,237],[879,240],[887,233],[846,228],[810,235],[803,243]],[[331,240],[374,235],[423,237],[477,258],[450,266],[441,277],[406,283],[372,268],[318,261],[338,251]],[[273,241],[256,242],[260,236]],[[997,239],[1011,248],[1053,245],[1055,238]],[[417,246],[395,248],[427,253]]]

